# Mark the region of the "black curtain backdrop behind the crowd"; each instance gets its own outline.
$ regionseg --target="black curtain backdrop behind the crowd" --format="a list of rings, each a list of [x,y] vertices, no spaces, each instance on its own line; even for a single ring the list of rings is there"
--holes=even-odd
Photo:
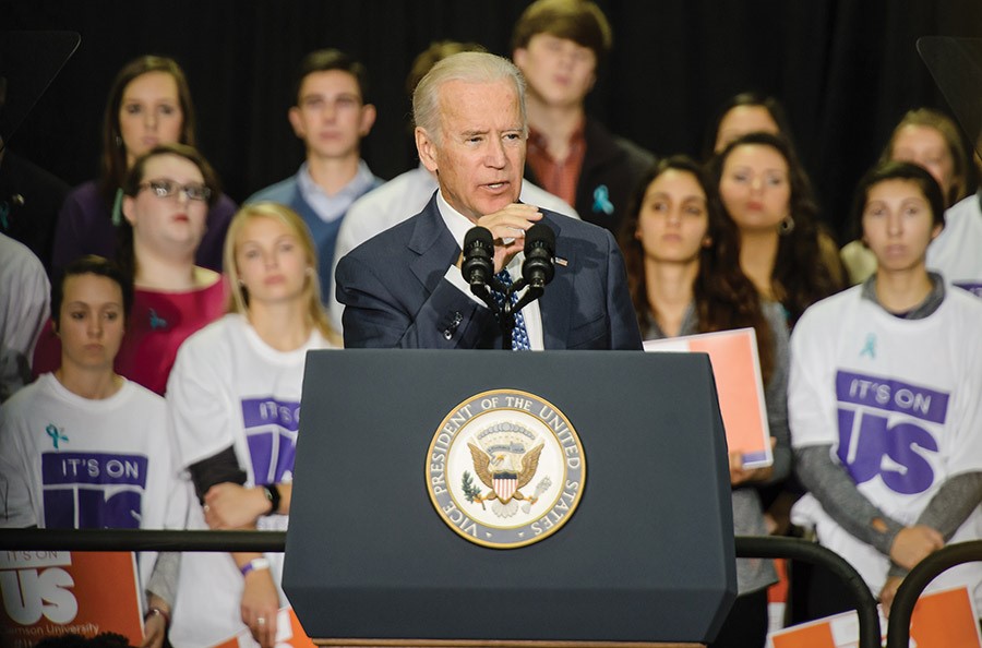
[[[949,111],[918,57],[920,36],[982,37],[980,0],[601,0],[614,51],[588,99],[614,132],[658,155],[698,155],[717,107],[745,89],[786,105],[823,216],[845,237],[852,190],[910,108]],[[510,56],[527,2],[495,0],[0,0],[0,31],[69,29],[82,45],[9,146],[69,183],[97,172],[116,71],[142,53],[188,73],[199,141],[236,201],[294,173],[286,119],[308,51],[360,58],[379,120],[363,157],[391,178],[416,164],[405,79],[438,39]],[[2,34],[0,34],[2,37]],[[29,52],[28,52],[29,53]],[[9,88],[13,94],[16,88]],[[982,87],[979,88],[982,96]]]

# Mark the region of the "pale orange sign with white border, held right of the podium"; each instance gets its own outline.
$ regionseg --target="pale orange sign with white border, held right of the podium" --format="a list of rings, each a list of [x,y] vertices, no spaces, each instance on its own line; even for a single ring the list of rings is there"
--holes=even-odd
[[[708,353],[727,430],[727,446],[743,454],[746,468],[774,463],[757,336],[753,328],[648,340],[645,350]]]

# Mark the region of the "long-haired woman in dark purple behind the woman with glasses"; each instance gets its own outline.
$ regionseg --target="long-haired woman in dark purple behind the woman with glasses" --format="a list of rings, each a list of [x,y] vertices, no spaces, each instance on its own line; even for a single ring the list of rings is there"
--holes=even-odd
[[[51,260],[56,269],[82,254],[116,256],[127,173],[157,144],[177,142],[195,145],[194,107],[183,70],[167,57],[130,61],[116,75],[106,101],[99,178],[75,188],[58,215]],[[221,244],[235,211],[236,204],[216,189],[195,254],[199,265],[221,269]]]

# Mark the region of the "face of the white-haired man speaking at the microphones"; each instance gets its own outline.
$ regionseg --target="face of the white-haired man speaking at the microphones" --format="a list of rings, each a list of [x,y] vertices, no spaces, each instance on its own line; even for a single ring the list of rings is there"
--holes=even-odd
[[[446,202],[474,221],[517,202],[525,132],[514,85],[450,81],[438,92],[440,133],[417,128],[416,145]]]

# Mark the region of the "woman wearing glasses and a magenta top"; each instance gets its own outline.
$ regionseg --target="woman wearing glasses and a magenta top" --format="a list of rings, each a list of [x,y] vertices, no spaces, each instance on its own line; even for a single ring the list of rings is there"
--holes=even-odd
[[[160,144],[137,158],[123,182],[120,265],[136,291],[116,371],[164,394],[177,349],[225,311],[225,285],[195,265],[218,181],[207,160],[183,144]],[[34,371],[57,367],[57,338],[38,341]]]

